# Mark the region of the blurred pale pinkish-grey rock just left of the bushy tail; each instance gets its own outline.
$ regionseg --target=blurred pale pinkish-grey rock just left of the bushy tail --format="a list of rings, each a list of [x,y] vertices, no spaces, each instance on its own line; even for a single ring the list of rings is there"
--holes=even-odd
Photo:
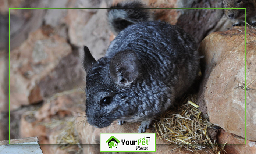
[[[100,8],[107,8],[105,1],[102,1]],[[106,13],[106,9],[97,10],[96,14],[86,10],[68,11],[70,42],[79,47],[88,46],[96,59],[105,55],[107,46],[110,44]]]

